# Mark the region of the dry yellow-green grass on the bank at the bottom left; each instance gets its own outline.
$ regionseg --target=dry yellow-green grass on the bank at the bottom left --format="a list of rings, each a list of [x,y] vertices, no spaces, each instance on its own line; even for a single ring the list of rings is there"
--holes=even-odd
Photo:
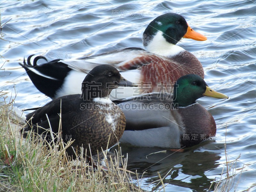
[[[52,144],[34,135],[28,135],[30,141],[22,139],[11,107],[12,100],[0,106],[0,191],[143,191],[132,184],[136,174],[126,170],[120,151],[109,157],[107,168],[93,170],[83,158],[68,159],[65,149],[71,142],[64,147],[62,140]]]

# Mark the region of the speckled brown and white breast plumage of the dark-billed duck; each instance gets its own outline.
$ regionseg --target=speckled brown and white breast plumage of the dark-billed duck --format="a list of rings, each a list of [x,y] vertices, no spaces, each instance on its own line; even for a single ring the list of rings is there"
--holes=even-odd
[[[95,108],[100,108],[101,106],[102,109],[92,110],[90,113],[81,113],[79,116],[75,116],[72,127],[82,120],[85,122],[74,127],[72,130],[65,129],[62,131],[63,135],[72,135],[72,139],[75,140],[72,146],[82,146],[83,144],[84,148],[87,148],[87,153],[89,153],[88,144],[90,144],[92,154],[97,153],[97,150],[101,150],[101,147],[103,150],[106,149],[109,136],[108,145],[109,147],[113,146],[121,138],[125,128],[124,114],[114,103],[104,106],[97,103],[94,104]],[[116,116],[116,119],[113,119],[114,124],[116,124],[116,130],[113,130],[111,124],[107,122],[106,117],[108,115]],[[72,148],[67,150],[69,154],[72,151]]]

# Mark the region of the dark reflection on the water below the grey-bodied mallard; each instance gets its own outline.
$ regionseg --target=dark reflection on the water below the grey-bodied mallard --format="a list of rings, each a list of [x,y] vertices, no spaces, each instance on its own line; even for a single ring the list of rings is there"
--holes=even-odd
[[[212,182],[212,179],[207,177],[206,172],[220,165],[218,162],[220,155],[209,151],[200,152],[198,151],[199,146],[186,148],[181,152],[168,149],[166,152],[160,152],[164,149],[121,144],[122,154],[128,153],[127,169],[133,172],[137,170],[140,177],[148,177],[148,180],[144,180],[143,186],[159,180],[159,172],[161,178],[167,174],[164,179],[165,184],[204,191],[210,188]],[[156,186],[157,183],[154,182],[150,188],[161,188],[161,184]]]

